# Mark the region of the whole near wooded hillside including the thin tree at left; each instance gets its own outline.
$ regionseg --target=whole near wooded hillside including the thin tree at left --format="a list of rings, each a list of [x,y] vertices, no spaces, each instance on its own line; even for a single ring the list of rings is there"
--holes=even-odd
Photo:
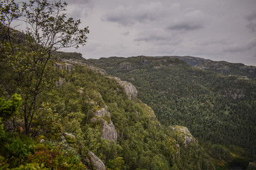
[[[56,52],[87,42],[68,4],[0,4],[0,169],[215,169],[188,128],[161,125],[132,84]],[[18,19],[23,33],[11,28]]]

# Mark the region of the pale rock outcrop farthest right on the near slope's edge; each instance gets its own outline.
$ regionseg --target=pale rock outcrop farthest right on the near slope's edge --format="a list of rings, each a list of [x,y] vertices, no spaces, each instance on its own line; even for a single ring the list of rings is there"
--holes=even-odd
[[[175,125],[171,126],[171,129],[174,130],[178,137],[181,137],[181,139],[183,140],[183,145],[185,145],[185,147],[191,142],[196,142],[195,137],[191,135],[191,132],[189,132],[188,128]]]

